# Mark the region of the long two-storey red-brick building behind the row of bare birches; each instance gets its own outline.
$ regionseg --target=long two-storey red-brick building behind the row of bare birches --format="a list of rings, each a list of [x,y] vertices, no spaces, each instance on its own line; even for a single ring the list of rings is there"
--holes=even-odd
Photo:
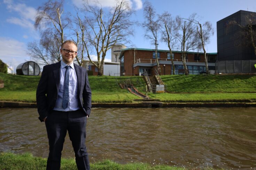
[[[209,70],[215,70],[217,53],[207,53],[207,55]],[[146,69],[148,75],[155,75],[155,70],[157,70],[155,56],[154,49],[122,49],[119,55],[120,74],[125,76],[137,76],[140,73],[143,74],[143,70]],[[184,69],[180,51],[172,51],[171,56],[169,50],[157,50],[157,58],[161,68],[161,75],[172,74],[171,57],[173,58],[175,65],[175,74],[178,74],[178,70]],[[186,65],[189,70],[189,74],[204,73],[205,63],[203,53],[188,52]]]

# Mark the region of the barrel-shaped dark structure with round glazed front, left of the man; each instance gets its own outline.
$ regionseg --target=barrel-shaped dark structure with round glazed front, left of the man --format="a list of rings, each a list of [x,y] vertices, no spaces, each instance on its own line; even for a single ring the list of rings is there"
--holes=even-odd
[[[16,73],[17,75],[38,76],[40,67],[34,61],[27,61],[17,66]]]

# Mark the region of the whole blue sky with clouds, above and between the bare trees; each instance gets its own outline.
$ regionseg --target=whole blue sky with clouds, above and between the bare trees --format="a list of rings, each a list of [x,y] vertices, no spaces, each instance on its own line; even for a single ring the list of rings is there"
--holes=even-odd
[[[40,39],[39,31],[33,27],[34,16],[38,6],[47,0],[0,0],[0,59],[16,67],[22,62],[30,61],[26,54],[28,42]],[[109,7],[115,0],[99,0],[103,7]],[[79,6],[82,0],[64,1],[65,11],[74,11],[73,6]],[[131,18],[142,23],[144,0],[130,0],[131,6],[136,10],[136,14]],[[173,17],[180,15],[188,17],[192,13],[197,13],[201,17],[201,22],[210,21],[215,29],[214,36],[211,37],[210,44],[207,45],[207,52],[217,52],[217,32],[216,22],[239,10],[256,12],[256,0],[151,0],[157,14],[169,11]],[[130,37],[132,44],[125,44],[135,48],[154,48],[150,42],[144,38],[143,28],[135,27],[135,34]],[[159,43],[158,49],[167,50],[164,43]],[[91,55],[94,55],[93,53]],[[110,52],[106,60],[110,60]]]

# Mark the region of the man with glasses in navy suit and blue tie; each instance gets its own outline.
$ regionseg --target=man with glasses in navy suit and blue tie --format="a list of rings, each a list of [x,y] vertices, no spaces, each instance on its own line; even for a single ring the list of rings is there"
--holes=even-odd
[[[73,63],[77,46],[67,40],[60,49],[62,60],[44,66],[37,87],[37,108],[49,140],[46,169],[60,169],[67,131],[75,151],[78,170],[89,170],[85,145],[86,121],[91,112],[91,88],[85,68]]]

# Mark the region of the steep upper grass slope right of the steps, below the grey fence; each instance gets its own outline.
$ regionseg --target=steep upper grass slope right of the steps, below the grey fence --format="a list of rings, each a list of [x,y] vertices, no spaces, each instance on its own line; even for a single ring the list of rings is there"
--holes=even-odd
[[[170,93],[256,93],[256,75],[165,75]]]

